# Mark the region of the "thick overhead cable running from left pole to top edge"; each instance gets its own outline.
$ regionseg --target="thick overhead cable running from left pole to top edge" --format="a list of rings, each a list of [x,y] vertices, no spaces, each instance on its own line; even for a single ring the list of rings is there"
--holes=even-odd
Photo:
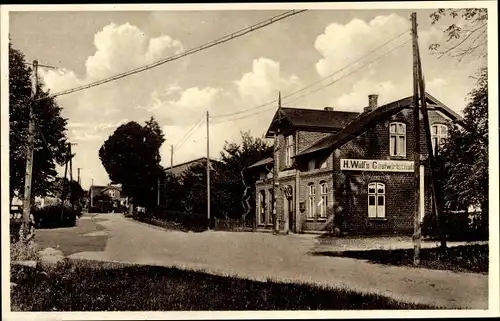
[[[112,76],[112,77],[108,77],[108,78],[105,78],[105,79],[102,79],[102,80],[91,82],[89,84],[78,86],[78,87],[75,87],[75,88],[63,90],[63,91],[60,91],[58,93],[55,93],[55,94],[51,95],[50,97],[53,98],[53,97],[58,97],[58,96],[62,96],[62,95],[68,95],[68,94],[71,94],[71,93],[74,93],[74,92],[78,92],[78,91],[82,91],[82,90],[89,89],[89,88],[92,88],[92,87],[100,86],[100,85],[106,84],[108,82],[112,82],[112,81],[115,81],[115,80],[118,80],[118,79],[130,76],[130,75],[133,75],[133,74],[137,74],[137,73],[140,73],[140,72],[143,72],[143,71],[146,71],[146,70],[158,67],[158,66],[163,65],[163,64],[165,64],[167,62],[171,62],[171,61],[183,58],[185,56],[192,55],[192,54],[194,54],[194,53],[196,53],[198,51],[202,51],[202,50],[211,48],[213,46],[216,46],[216,45],[228,42],[228,41],[230,41],[232,39],[239,38],[239,37],[241,37],[243,35],[246,35],[247,33],[250,33],[252,31],[256,31],[258,29],[264,28],[264,27],[266,27],[268,25],[271,25],[273,23],[276,23],[276,22],[278,22],[280,20],[286,19],[288,17],[294,16],[296,14],[299,14],[299,13],[302,13],[302,12],[305,12],[305,11],[307,11],[307,10],[289,10],[289,11],[287,11],[285,13],[282,13],[282,14],[279,14],[279,15],[274,16],[272,18],[269,18],[267,20],[261,21],[259,23],[256,23],[256,24],[250,26],[250,27],[246,27],[246,28],[240,29],[240,30],[238,30],[236,32],[227,34],[227,35],[225,35],[225,36],[223,36],[221,38],[218,38],[216,40],[210,41],[210,42],[205,43],[205,44],[203,44],[201,46],[189,49],[189,50],[184,51],[184,52],[182,52],[180,54],[164,58],[164,59],[159,60],[157,62],[148,64],[148,65],[145,65],[145,66],[142,66],[142,67],[139,67],[139,68],[135,68],[135,69],[132,69],[132,70],[129,70],[129,71],[117,74],[117,75]]]

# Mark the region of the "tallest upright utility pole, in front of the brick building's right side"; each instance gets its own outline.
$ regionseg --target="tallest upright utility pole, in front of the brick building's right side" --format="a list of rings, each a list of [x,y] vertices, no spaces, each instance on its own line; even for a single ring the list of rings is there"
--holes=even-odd
[[[413,42],[413,130],[415,136],[415,147],[413,161],[415,165],[415,213],[413,222],[413,264],[420,264],[420,106],[418,102],[418,35],[417,35],[417,13],[411,14],[411,29]]]

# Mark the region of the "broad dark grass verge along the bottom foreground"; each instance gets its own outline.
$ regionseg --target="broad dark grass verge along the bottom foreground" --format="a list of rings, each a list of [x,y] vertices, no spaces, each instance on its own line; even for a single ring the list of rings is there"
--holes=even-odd
[[[20,311],[227,311],[435,309],[376,294],[258,282],[154,266],[68,261],[41,272],[13,266]]]

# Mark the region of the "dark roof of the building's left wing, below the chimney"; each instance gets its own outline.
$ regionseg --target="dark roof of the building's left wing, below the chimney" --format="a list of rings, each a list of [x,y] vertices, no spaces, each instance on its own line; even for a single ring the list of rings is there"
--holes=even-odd
[[[348,111],[281,107],[276,111],[266,137],[271,137],[282,121],[303,129],[334,132],[344,128],[358,115],[359,113]]]

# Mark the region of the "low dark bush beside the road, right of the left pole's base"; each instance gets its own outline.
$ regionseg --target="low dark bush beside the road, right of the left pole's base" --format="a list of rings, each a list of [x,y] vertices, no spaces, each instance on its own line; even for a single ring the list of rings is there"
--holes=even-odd
[[[42,207],[33,212],[35,224],[38,228],[71,227],[76,225],[77,217],[81,212],[72,209],[71,206],[64,205],[64,212],[61,213],[61,205],[50,205]]]

